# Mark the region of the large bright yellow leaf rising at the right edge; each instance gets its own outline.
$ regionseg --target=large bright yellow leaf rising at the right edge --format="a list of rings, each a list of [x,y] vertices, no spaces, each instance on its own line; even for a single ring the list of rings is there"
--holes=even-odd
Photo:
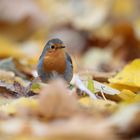
[[[140,59],[136,59],[125,66],[114,78],[110,78],[109,82],[140,88]]]

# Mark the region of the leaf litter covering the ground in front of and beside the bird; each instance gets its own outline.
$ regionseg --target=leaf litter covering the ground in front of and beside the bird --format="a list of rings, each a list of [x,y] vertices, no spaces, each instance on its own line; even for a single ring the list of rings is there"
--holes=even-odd
[[[8,64],[12,63],[13,66],[9,60]],[[125,78],[127,73],[131,77],[131,72],[137,75],[139,59],[126,65],[109,79],[109,83],[89,79],[89,76],[86,81],[81,80],[82,77],[77,74],[72,81],[72,89],[62,79],[50,81],[49,84],[41,83],[38,79],[31,82],[16,73],[16,65],[12,69],[5,63],[7,65],[7,60],[2,61],[0,71],[0,112],[3,114],[0,130],[3,134],[12,138],[83,140],[120,139],[138,135],[140,122],[134,116],[139,116],[140,98],[133,86],[137,92],[139,86],[129,84],[127,89],[127,81],[123,78],[118,81],[114,79],[117,75]],[[123,83],[121,86],[124,88],[119,88],[120,83]],[[77,88],[85,95],[79,96],[75,90]],[[126,116],[129,117],[126,119]],[[13,124],[15,126],[11,129],[10,125]]]

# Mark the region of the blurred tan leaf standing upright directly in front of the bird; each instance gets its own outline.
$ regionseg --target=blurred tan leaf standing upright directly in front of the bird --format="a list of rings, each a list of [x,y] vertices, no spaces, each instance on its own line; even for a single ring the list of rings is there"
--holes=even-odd
[[[46,85],[39,95],[39,109],[48,119],[71,117],[77,111],[76,99],[70,95],[66,84],[57,80]]]

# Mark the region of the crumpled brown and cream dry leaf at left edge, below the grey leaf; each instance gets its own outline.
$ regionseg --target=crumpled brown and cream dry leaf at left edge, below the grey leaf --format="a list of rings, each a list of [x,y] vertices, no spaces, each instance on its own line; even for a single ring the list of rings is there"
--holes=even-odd
[[[35,92],[27,84],[20,77],[16,77],[13,72],[0,70],[0,96],[19,98],[35,95]]]

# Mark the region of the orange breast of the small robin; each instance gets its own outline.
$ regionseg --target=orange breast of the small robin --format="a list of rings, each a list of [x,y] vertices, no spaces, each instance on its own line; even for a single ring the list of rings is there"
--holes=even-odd
[[[47,52],[44,58],[43,67],[46,72],[56,71],[60,74],[64,74],[66,70],[65,52],[62,49]]]

